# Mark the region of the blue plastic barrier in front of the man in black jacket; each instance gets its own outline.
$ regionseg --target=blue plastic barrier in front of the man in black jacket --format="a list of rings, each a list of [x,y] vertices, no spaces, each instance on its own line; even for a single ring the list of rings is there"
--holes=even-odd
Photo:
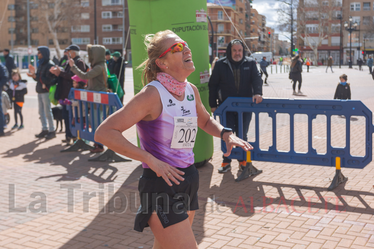
[[[362,169],[372,160],[372,112],[359,100],[312,100],[312,99],[267,99],[264,98],[259,104],[252,102],[252,98],[229,97],[214,112],[220,117],[221,124],[226,127],[226,112],[237,112],[239,117],[239,134],[243,138],[242,113],[252,112],[255,119],[255,142],[251,143],[254,149],[251,158],[247,160],[279,162],[289,164],[307,164],[320,166],[337,166],[346,168]],[[261,150],[259,147],[259,113],[269,113],[273,122],[273,145],[269,150]],[[276,149],[276,113],[288,113],[290,116],[290,150],[282,152]],[[297,153],[294,151],[294,115],[308,115],[308,152]],[[317,153],[312,147],[312,120],[316,115],[327,117],[327,153]],[[344,115],[346,117],[346,147],[338,148],[331,146],[331,115]],[[365,121],[365,156],[350,155],[350,116],[364,116]],[[342,131],[343,132],[343,131]],[[226,144],[222,141],[221,148],[226,152]],[[246,160],[246,152],[241,148],[233,148],[231,159]],[[338,161],[340,160],[341,161]]]

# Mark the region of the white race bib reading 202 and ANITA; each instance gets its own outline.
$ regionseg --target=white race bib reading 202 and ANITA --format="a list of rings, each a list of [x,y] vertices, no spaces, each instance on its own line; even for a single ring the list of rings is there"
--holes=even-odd
[[[193,148],[197,133],[197,117],[174,117],[174,133],[171,148]]]

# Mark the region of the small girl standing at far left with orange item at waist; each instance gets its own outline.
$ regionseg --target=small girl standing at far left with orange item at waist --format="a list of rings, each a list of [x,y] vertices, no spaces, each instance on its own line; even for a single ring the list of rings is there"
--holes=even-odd
[[[14,119],[16,124],[13,125],[12,129],[18,128],[18,130],[21,130],[24,128],[23,125],[23,116],[21,113],[23,104],[25,102],[24,96],[27,94],[27,80],[21,79],[21,74],[19,72],[19,69],[13,69],[12,71],[12,80],[10,80],[10,85],[8,89],[8,95],[10,97],[10,100],[13,103],[14,108]],[[18,126],[18,117],[21,123]]]

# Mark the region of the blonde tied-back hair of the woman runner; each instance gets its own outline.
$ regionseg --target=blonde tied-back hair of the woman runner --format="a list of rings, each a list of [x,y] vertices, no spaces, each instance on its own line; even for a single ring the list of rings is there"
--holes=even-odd
[[[165,47],[166,40],[170,35],[177,36],[169,29],[159,31],[156,34],[145,35],[144,44],[147,46],[148,59],[137,67],[137,69],[139,69],[144,66],[144,70],[141,74],[141,82],[143,86],[147,85],[151,81],[156,80],[157,73],[162,72],[156,64],[156,59],[158,59],[159,56],[167,49]]]

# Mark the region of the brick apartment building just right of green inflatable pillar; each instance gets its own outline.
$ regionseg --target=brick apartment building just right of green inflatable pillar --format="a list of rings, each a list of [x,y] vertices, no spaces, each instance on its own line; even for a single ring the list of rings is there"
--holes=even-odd
[[[245,0],[236,0],[235,5],[226,6],[223,8],[226,10],[227,15],[219,4],[207,3],[207,14],[211,19],[214,37],[213,40],[216,43],[217,49],[214,48],[213,53],[215,56],[223,57],[226,56],[227,44],[233,39],[239,39],[236,29],[239,34],[245,37]],[[231,21],[230,21],[231,20]],[[233,23],[233,24],[232,24]],[[211,25],[209,27],[209,37],[212,37]]]

